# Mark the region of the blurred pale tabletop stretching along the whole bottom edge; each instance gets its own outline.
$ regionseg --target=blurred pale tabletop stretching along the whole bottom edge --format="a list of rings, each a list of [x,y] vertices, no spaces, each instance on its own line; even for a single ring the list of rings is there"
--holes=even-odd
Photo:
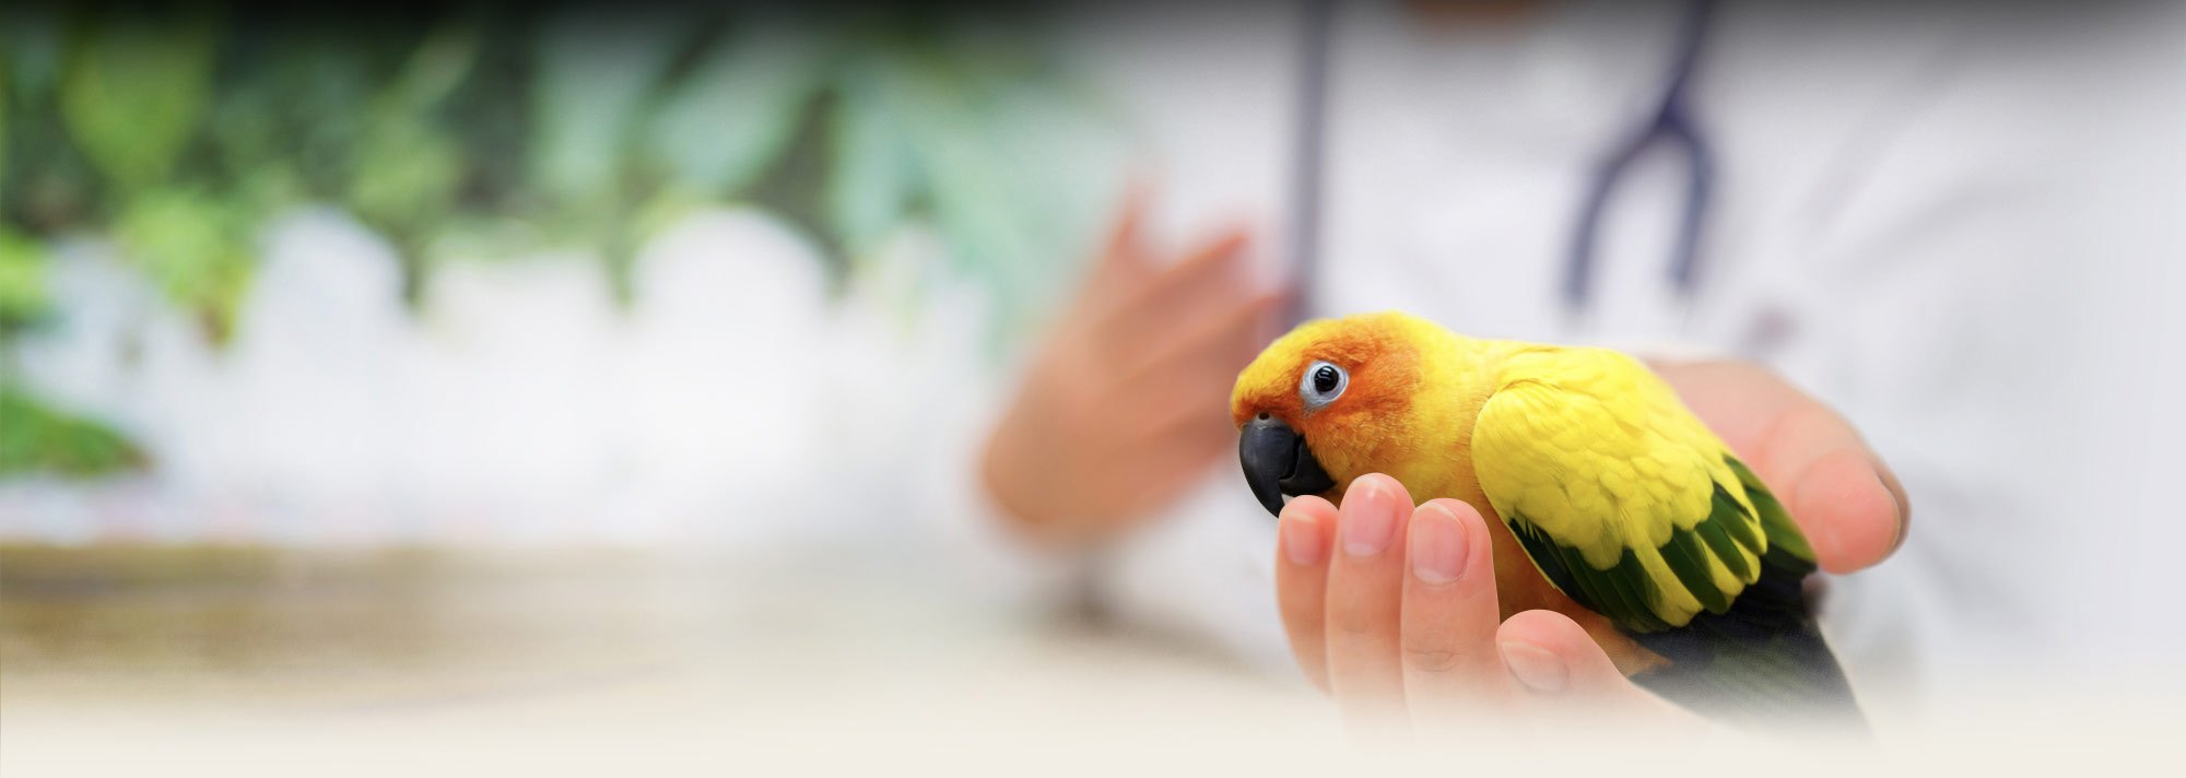
[[[1283,677],[877,557],[0,546],[0,776],[1690,778],[1696,747],[1959,774],[2136,765],[2177,728],[2169,695],[2007,693],[1880,747],[1482,728],[1360,752]]]

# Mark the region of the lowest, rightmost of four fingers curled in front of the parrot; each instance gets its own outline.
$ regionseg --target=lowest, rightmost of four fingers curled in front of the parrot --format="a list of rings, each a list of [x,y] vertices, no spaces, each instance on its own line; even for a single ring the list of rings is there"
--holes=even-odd
[[[1504,669],[1519,699],[1546,719],[1574,712],[1692,721],[1692,712],[1635,686],[1576,621],[1552,610],[1528,610],[1495,634]]]

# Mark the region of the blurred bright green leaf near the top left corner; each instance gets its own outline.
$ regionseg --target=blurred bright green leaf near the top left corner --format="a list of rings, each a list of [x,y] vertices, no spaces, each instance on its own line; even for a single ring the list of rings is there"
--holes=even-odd
[[[197,133],[212,92],[214,24],[116,20],[70,42],[61,118],[101,173],[138,188],[162,181]]]

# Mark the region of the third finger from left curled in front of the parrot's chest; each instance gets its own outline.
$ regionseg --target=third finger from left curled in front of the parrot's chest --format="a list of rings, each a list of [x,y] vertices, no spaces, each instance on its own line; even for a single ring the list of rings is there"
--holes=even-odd
[[[1406,533],[1399,645],[1403,702],[1414,721],[1447,721],[1508,702],[1511,677],[1495,651],[1493,546],[1480,511],[1430,500]]]

